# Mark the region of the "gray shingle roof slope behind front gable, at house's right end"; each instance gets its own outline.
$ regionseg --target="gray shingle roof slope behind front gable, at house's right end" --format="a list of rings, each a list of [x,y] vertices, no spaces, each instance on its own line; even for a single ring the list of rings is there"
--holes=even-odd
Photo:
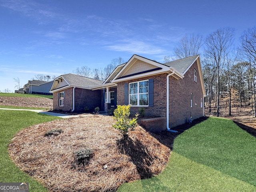
[[[168,63],[164,63],[168,67],[173,67],[174,69],[178,70],[181,74],[183,74],[186,69],[192,64],[192,62],[198,57],[198,55],[190,56],[184,59],[179,59],[176,61],[171,61]]]

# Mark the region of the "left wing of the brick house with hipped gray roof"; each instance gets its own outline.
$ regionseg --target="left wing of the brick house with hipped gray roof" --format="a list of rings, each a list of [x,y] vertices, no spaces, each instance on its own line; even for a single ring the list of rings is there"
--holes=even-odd
[[[91,90],[91,87],[102,84],[103,81],[82,77],[74,74],[64,74],[52,84],[53,110],[83,111],[85,107],[94,110],[102,108],[102,90]]]

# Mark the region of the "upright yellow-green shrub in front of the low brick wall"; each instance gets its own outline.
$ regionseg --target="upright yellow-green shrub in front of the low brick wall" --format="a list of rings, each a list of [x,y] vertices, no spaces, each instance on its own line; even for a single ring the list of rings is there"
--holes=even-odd
[[[130,119],[130,108],[131,105],[118,105],[114,110],[114,119],[116,122],[112,125],[118,129],[123,135],[126,135],[129,129],[133,129],[137,124],[138,114],[135,118]]]

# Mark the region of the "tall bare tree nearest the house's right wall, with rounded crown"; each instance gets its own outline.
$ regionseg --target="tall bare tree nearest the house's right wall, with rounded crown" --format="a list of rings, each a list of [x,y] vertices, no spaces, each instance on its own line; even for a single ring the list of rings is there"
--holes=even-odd
[[[234,42],[234,29],[221,28],[210,34],[205,40],[205,54],[211,58],[217,72],[217,116],[220,108],[220,76],[227,62],[228,54]]]

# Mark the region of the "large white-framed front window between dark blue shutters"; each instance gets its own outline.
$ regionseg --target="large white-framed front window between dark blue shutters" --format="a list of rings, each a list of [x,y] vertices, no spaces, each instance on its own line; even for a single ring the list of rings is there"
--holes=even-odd
[[[148,80],[130,83],[129,98],[133,106],[148,106]]]

